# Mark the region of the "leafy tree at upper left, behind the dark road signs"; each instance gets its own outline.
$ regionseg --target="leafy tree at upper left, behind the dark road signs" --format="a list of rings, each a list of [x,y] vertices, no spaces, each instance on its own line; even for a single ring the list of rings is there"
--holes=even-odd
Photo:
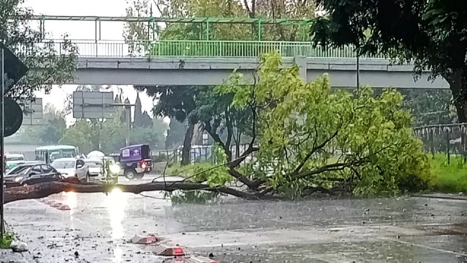
[[[0,2],[0,39],[30,69],[6,95],[18,101],[32,101],[36,91],[47,94],[53,84],[74,78],[77,48],[66,36],[61,50],[56,50],[54,42],[43,41],[47,36],[34,30],[28,20],[33,11],[23,6],[24,0]]]

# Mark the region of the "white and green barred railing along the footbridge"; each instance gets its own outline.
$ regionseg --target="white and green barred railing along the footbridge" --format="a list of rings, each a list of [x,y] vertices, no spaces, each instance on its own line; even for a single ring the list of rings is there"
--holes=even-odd
[[[310,42],[233,40],[72,40],[85,57],[258,57],[277,51],[283,57],[355,57],[352,47],[314,47]],[[60,54],[63,40],[44,40],[35,48],[53,46]],[[385,58],[384,56],[371,56]]]

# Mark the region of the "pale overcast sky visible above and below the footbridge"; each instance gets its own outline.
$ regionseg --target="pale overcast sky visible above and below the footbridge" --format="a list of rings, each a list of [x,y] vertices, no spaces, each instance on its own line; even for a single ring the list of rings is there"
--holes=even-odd
[[[31,7],[36,15],[48,16],[125,16],[126,0],[26,0],[25,6]],[[101,38],[107,40],[123,40],[122,22],[102,22]],[[67,33],[71,39],[94,39],[94,22],[91,21],[45,21],[45,30],[60,38]],[[132,86],[120,86],[130,102],[134,103],[136,92]],[[50,94],[37,93],[43,104],[52,103],[57,109],[63,109],[65,99],[76,89],[76,85],[54,87]],[[152,109],[152,99],[140,94],[143,111]],[[68,119],[70,122],[71,119]]]

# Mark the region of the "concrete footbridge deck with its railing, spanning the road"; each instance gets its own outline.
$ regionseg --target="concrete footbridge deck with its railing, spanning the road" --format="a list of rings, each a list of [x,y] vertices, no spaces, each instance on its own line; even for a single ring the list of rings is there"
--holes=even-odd
[[[158,40],[72,40],[78,47],[76,78],[67,84],[218,85],[234,69],[252,81],[258,57],[277,51],[283,65],[294,63],[307,81],[328,73],[333,87],[355,87],[357,58],[352,48],[323,49],[309,42]],[[57,50],[60,43],[55,42]],[[360,57],[361,85],[374,88],[446,89],[443,78],[430,72],[414,79],[413,65],[393,65],[381,57]]]

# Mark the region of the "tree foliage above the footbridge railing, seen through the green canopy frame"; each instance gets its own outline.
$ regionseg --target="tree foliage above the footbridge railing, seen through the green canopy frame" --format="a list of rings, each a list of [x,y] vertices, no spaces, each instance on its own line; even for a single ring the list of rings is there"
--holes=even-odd
[[[162,17],[224,17],[224,18],[312,18],[315,15],[315,1],[281,0],[249,1],[243,0],[136,0],[128,1],[128,16],[151,16],[152,3]],[[149,32],[148,32],[149,30]],[[306,37],[308,25],[301,23],[284,23],[280,25],[263,25],[262,40],[294,41]],[[205,24],[166,23],[164,27],[157,24],[127,23],[124,37],[128,40],[147,39],[152,32],[159,39],[207,39]],[[148,34],[149,33],[149,34]],[[256,40],[257,25],[248,24],[215,24],[209,25],[209,39]],[[161,50],[162,49],[157,49]],[[181,51],[181,50],[180,50]],[[263,51],[264,52],[264,51]],[[258,54],[259,55],[259,54]]]

